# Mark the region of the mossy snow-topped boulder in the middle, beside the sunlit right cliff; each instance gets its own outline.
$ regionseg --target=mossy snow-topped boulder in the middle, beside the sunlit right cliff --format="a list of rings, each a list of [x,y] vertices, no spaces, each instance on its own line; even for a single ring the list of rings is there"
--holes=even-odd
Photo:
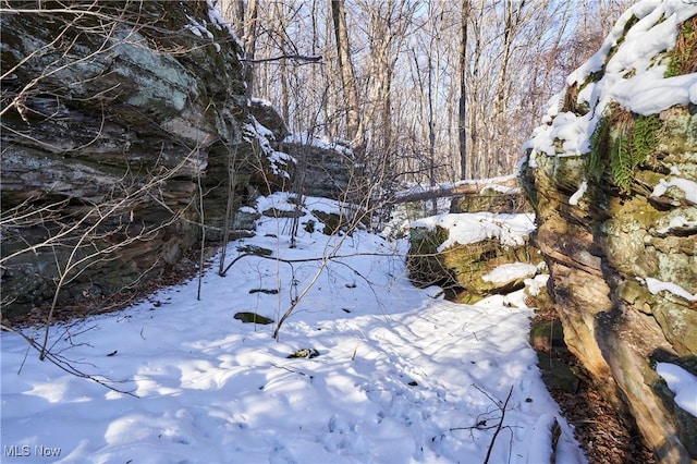
[[[541,256],[528,240],[534,213],[515,176],[463,181],[396,198],[427,202],[440,195],[452,196],[450,215],[409,224],[407,269],[415,285],[438,285],[448,298],[473,304],[523,289],[540,273]]]

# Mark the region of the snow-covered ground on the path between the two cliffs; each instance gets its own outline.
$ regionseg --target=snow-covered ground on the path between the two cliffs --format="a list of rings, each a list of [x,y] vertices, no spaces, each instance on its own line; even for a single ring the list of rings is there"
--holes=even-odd
[[[283,194],[260,203],[291,207]],[[481,463],[492,448],[490,463],[542,463],[554,419],[557,462],[585,462],[540,379],[521,292],[505,305],[449,303],[409,284],[405,241],[301,225],[292,249],[290,230],[262,217],[227,261],[243,246],[272,256],[243,257],[225,277],[213,262],[200,300],[193,279],[53,327],[52,353],[131,394],[40,362],[2,333],[2,462]],[[322,256],[337,257],[303,260]],[[308,285],[279,341],[276,325],[234,318],[278,321]],[[318,356],[289,357],[302,349]]]

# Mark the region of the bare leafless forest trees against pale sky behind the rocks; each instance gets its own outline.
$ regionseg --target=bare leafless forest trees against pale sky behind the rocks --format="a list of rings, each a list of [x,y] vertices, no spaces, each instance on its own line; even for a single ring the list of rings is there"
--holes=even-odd
[[[628,0],[220,0],[248,96],[291,132],[347,139],[375,179],[515,172],[564,80]]]

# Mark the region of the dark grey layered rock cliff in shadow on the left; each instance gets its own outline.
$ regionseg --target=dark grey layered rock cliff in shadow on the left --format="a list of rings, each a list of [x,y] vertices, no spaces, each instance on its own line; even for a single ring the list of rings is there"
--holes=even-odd
[[[4,316],[142,285],[201,231],[244,228],[239,206],[283,184],[288,159],[271,145],[284,129],[249,108],[240,45],[212,2],[11,7],[0,17]]]

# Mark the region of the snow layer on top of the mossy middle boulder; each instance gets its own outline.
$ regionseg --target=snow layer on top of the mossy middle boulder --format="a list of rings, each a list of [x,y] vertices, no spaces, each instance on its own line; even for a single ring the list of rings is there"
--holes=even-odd
[[[438,251],[455,244],[467,245],[487,239],[498,239],[502,245],[515,246],[527,242],[535,230],[535,215],[469,212],[443,213],[412,221],[411,227],[433,230],[437,225],[448,229],[449,236]]]

